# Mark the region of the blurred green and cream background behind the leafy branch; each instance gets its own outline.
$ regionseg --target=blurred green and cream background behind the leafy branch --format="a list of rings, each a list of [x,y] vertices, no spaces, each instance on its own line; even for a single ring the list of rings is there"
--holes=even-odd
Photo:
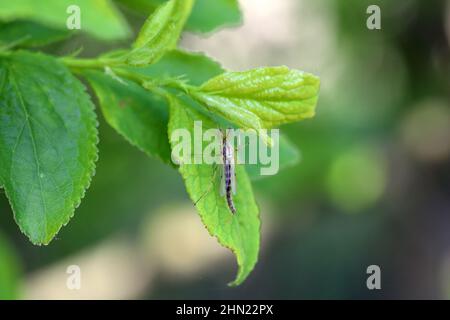
[[[282,127],[301,162],[254,182],[262,248],[238,288],[177,172],[100,119],[100,159],[74,218],[30,244],[0,193],[3,298],[450,298],[450,1],[241,0],[244,23],[181,46],[231,70],[287,65],[321,77],[317,115]],[[381,8],[381,30],[366,9]],[[144,15],[123,9],[136,33]],[[129,44],[79,35],[83,55]],[[369,265],[381,290],[368,290]],[[68,290],[67,268],[82,271]]]

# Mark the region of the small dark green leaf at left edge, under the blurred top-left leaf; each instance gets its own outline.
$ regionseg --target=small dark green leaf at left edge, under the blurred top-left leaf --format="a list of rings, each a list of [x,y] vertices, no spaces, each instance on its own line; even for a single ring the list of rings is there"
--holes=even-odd
[[[68,30],[46,27],[26,20],[0,22],[0,43],[19,41],[21,47],[40,47],[69,37]]]

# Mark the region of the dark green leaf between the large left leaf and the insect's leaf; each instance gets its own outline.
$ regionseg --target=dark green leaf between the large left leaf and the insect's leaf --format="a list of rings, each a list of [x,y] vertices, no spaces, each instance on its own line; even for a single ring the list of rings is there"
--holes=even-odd
[[[97,94],[106,121],[149,156],[171,163],[165,102],[131,81],[97,71],[84,75]]]

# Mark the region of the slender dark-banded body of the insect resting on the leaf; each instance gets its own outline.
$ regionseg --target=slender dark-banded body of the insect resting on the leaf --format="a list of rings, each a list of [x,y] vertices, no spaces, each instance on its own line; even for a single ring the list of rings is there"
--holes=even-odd
[[[236,176],[234,170],[234,148],[227,140],[226,134],[222,133],[222,188],[221,194],[226,196],[227,205],[231,213],[236,213],[236,207],[233,202],[233,195],[236,193]]]

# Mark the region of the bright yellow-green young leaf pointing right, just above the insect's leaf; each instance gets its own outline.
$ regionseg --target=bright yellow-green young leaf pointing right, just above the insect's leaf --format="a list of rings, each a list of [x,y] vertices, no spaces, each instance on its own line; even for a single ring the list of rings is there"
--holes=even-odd
[[[287,67],[227,72],[189,93],[243,129],[271,128],[315,114],[318,77]]]

